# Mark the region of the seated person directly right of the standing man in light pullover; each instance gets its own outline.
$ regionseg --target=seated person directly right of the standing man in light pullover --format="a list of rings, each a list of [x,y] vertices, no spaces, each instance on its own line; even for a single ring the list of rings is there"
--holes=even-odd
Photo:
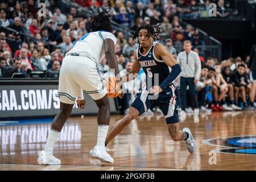
[[[196,89],[198,91],[198,104],[200,106],[200,110],[206,113],[212,113],[212,109],[208,109],[205,103],[205,96],[207,94],[207,87],[212,84],[212,80],[207,77],[209,71],[209,67],[202,67],[200,80],[196,84]]]

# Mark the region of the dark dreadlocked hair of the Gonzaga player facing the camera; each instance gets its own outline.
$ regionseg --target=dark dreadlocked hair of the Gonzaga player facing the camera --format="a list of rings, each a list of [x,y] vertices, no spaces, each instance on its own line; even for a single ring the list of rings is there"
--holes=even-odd
[[[141,31],[142,29],[146,29],[147,30],[147,39],[149,39],[150,37],[152,37],[155,40],[160,40],[158,38],[158,35],[160,34],[160,28],[161,24],[157,24],[155,26],[152,26],[151,24],[143,24],[142,26],[140,26],[139,28],[137,28],[137,30],[135,31],[134,35],[133,35],[133,40],[136,40],[137,37],[139,36],[139,31]],[[139,49],[141,49],[141,51],[143,52],[143,48],[141,47],[141,43],[139,43]]]

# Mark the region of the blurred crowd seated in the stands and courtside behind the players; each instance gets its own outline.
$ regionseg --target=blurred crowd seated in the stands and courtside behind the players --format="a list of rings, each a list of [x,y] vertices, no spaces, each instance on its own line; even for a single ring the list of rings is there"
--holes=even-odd
[[[38,4],[46,4],[46,14],[38,16]],[[179,59],[184,51],[184,41],[189,40],[193,52],[199,55],[201,63],[199,81],[195,82],[195,92],[181,88],[179,78],[176,80],[177,91],[188,90],[198,102],[189,98],[179,97],[182,111],[192,112],[191,108],[206,112],[217,110],[253,109],[255,107],[255,82],[250,77],[247,68],[249,57],[245,61],[241,57],[228,60],[217,60],[205,57],[200,46],[204,45],[199,30],[191,25],[184,27],[183,18],[206,17],[209,3],[217,4],[217,17],[229,16],[226,8],[230,8],[232,1],[216,0],[138,0],[138,1],[82,1],[76,0],[85,9],[97,13],[97,9],[109,7],[112,19],[123,27],[136,30],[143,23],[161,24],[162,34],[158,42],[166,46],[168,52]],[[0,77],[31,77],[33,71],[43,71],[46,77],[58,77],[61,61],[77,40],[84,36],[92,16],[84,16],[77,12],[76,7],[65,12],[59,6],[59,1],[45,0],[9,0],[0,3]],[[205,14],[206,13],[206,14]],[[10,29],[11,28],[11,29]],[[115,53],[118,67],[122,73],[129,72],[133,63],[133,55],[138,42],[125,38],[123,32],[113,30],[117,37]],[[28,39],[28,37],[30,39]],[[110,73],[108,63],[102,60],[100,64],[102,75],[107,77]],[[140,72],[141,81],[143,72]],[[238,79],[239,78],[239,79]],[[239,80],[239,81],[237,81]],[[136,82],[136,81],[135,81]],[[129,90],[132,94],[124,98],[121,106],[125,111],[131,102],[131,97],[142,87],[142,83],[135,83],[136,89]],[[129,89],[129,85],[126,86]],[[184,92],[181,92],[184,94]],[[179,94],[179,93],[178,93]],[[133,95],[133,96],[131,96]],[[182,104],[183,103],[183,104]],[[185,104],[184,104],[185,103]],[[182,106],[182,105],[183,106]],[[158,110],[158,108],[152,108]],[[181,111],[181,112],[182,112]],[[197,112],[197,111],[196,111]]]

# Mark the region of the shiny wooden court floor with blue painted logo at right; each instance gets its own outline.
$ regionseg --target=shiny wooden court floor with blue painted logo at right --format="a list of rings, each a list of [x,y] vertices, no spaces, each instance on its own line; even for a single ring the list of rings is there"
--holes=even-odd
[[[110,125],[122,118],[113,115]],[[185,143],[168,135],[161,114],[142,115],[109,144],[114,164],[89,158],[96,144],[96,117],[73,117],[65,123],[55,146],[59,166],[37,164],[51,122],[0,122],[0,170],[256,170],[255,111],[187,115],[197,142],[190,155]]]

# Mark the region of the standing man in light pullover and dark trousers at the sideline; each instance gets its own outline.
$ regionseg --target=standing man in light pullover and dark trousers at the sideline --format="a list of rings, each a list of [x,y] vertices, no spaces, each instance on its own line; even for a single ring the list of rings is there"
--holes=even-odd
[[[199,105],[197,101],[195,85],[199,81],[201,73],[201,62],[198,54],[192,51],[192,45],[189,40],[184,41],[185,51],[180,52],[177,56],[177,63],[180,64],[180,89],[181,89],[181,109],[185,114],[187,107],[187,85],[189,86],[189,95],[192,103],[195,105],[194,115],[199,114]],[[189,65],[189,67],[188,67]]]

